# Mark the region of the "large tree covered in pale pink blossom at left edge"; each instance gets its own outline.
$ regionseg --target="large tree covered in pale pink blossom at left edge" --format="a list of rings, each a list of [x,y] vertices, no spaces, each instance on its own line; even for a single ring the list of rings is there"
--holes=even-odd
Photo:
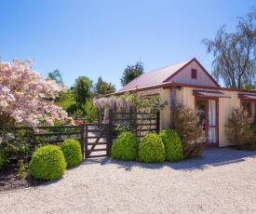
[[[0,127],[27,125],[35,129],[42,123],[53,126],[55,119],[67,119],[67,113],[54,103],[65,87],[43,79],[32,70],[32,63],[0,61]]]

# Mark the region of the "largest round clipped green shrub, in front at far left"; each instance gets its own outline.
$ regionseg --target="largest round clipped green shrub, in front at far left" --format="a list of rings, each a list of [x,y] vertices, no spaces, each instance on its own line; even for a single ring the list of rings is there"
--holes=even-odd
[[[66,167],[61,148],[57,145],[46,145],[34,152],[30,162],[30,177],[52,181],[60,178]]]

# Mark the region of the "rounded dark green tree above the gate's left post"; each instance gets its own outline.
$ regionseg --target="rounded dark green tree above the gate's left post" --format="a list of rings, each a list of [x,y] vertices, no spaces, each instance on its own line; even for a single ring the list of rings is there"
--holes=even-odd
[[[75,83],[74,86],[71,87],[71,91],[74,94],[76,104],[82,104],[85,106],[87,99],[92,97],[92,84],[92,80],[87,76],[79,76],[75,79]]]

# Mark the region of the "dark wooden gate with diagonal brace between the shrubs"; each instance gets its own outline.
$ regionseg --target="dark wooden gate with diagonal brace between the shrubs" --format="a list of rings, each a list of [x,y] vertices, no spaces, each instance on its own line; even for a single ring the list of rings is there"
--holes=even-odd
[[[85,124],[85,158],[110,156],[112,124]]]

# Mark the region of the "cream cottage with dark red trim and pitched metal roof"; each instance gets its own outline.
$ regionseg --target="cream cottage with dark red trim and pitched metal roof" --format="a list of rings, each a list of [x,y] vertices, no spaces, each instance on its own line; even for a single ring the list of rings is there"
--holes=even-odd
[[[137,88],[145,96],[159,95],[168,100],[168,106],[160,113],[160,129],[171,123],[171,107],[177,102],[200,110],[209,146],[232,145],[225,136],[224,125],[234,109],[244,106],[255,120],[256,91],[221,87],[196,60],[180,63],[141,74],[115,92],[120,95]]]

